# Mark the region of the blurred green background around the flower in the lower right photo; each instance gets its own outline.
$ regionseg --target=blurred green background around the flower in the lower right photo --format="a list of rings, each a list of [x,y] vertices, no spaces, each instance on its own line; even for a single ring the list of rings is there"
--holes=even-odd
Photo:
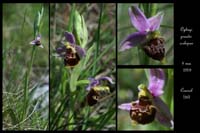
[[[148,79],[145,69],[118,69],[118,105],[130,103],[138,99],[138,85],[148,86]],[[165,86],[162,100],[168,105],[170,111],[174,113],[174,76],[173,69],[165,69]],[[117,115],[118,130],[170,130],[169,128],[154,121],[147,125],[133,126],[128,111],[118,109]]]

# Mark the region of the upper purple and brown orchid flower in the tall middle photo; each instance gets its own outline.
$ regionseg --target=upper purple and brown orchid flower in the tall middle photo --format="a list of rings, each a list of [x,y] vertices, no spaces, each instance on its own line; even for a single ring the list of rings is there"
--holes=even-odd
[[[74,35],[70,32],[65,32],[66,42],[56,49],[60,57],[64,58],[65,66],[74,67],[82,57],[86,55],[83,48],[76,45]]]

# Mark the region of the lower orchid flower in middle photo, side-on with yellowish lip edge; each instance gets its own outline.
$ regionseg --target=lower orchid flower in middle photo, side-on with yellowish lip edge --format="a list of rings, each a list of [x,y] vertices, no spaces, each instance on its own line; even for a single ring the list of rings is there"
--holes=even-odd
[[[100,77],[98,79],[89,78],[90,83],[86,87],[89,91],[87,94],[87,103],[89,106],[95,105],[100,99],[110,94],[110,88],[102,84],[101,81],[106,80],[111,84],[114,84],[110,77]]]

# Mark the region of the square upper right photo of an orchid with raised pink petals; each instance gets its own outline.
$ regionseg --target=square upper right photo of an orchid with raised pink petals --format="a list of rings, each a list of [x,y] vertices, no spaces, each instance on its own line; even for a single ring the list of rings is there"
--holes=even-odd
[[[173,65],[173,3],[117,5],[118,65]]]

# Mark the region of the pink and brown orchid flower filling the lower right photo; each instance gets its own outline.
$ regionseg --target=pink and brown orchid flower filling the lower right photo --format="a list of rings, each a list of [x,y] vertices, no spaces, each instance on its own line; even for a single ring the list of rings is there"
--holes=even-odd
[[[138,86],[138,100],[124,103],[119,109],[129,111],[131,119],[138,124],[148,124],[156,118],[161,124],[173,128],[169,107],[159,97],[164,91],[165,74],[162,69],[150,69],[149,85]]]

